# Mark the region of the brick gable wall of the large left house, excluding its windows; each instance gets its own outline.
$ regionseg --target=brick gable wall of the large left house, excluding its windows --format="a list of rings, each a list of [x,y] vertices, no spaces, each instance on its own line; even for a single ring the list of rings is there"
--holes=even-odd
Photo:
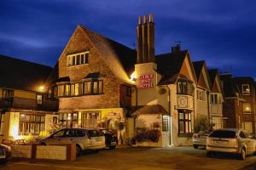
[[[89,51],[89,64],[67,67],[67,54]],[[60,110],[118,108],[119,80],[113,75],[96,48],[82,29],[78,27],[73,33],[67,47],[59,59],[59,77],[70,77],[71,81],[81,80],[91,72],[100,72],[103,77],[103,92],[101,95],[61,98]],[[89,102],[90,101],[90,102]]]

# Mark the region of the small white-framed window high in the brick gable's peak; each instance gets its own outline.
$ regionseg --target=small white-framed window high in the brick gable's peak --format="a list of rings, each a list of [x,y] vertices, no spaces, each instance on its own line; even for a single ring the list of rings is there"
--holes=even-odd
[[[89,63],[89,51],[67,55],[67,66],[84,65]]]

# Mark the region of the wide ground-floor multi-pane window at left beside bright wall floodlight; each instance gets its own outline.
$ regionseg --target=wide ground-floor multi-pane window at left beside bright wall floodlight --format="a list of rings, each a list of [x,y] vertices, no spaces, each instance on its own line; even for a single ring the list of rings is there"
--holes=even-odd
[[[20,135],[36,134],[45,130],[45,116],[20,113]]]

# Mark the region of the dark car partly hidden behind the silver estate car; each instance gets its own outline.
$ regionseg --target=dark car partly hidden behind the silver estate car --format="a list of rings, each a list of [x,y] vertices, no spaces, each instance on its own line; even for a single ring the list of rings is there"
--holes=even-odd
[[[118,138],[116,136],[116,133],[110,129],[101,129],[100,131],[105,136],[106,147],[108,147],[110,150],[114,150],[116,148],[116,145],[118,144]]]

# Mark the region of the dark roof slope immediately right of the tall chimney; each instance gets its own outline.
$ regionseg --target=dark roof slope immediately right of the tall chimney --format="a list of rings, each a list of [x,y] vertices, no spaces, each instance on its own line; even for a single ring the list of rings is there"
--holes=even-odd
[[[179,72],[183,66],[184,59],[189,54],[188,50],[178,51],[176,53],[159,54],[155,56],[157,71],[162,78],[159,85],[169,84],[177,81]]]

